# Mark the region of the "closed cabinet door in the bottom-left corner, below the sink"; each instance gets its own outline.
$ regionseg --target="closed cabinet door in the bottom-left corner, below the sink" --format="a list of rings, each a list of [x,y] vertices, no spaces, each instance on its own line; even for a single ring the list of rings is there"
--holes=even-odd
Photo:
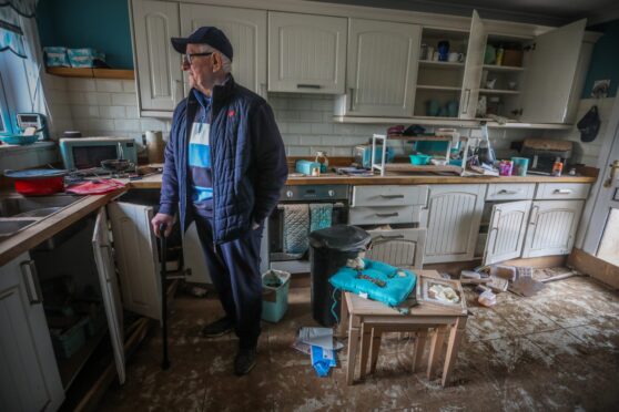
[[[42,299],[28,254],[0,268],[1,411],[55,411],[64,400]]]

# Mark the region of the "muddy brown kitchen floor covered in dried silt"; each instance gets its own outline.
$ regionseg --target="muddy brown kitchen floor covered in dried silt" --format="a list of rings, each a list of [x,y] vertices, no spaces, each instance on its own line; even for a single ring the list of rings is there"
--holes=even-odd
[[[292,288],[277,325],[264,325],[258,364],[232,373],[236,340],[197,338],[221,316],[219,301],[179,295],[171,322],[172,368],[161,371],[161,339],[151,336],[112,387],[102,411],[611,411],[619,405],[619,293],[582,277],[548,284],[531,298],[506,292],[493,309],[467,292],[467,334],[453,384],[412,374],[412,340],[387,337],[374,375],[353,387],[338,367],[318,378],[291,348],[297,328],[315,326],[310,290]],[[338,363],[346,364],[345,350]]]

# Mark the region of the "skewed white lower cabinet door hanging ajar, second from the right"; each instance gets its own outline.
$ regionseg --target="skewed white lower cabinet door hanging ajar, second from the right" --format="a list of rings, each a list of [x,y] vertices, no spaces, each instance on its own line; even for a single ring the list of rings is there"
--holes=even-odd
[[[493,206],[493,216],[490,217],[484,251],[484,265],[520,257],[530,208],[530,200]]]

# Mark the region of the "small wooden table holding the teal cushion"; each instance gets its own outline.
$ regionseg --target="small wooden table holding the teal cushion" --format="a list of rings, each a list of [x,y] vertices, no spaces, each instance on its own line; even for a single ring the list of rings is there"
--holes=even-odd
[[[436,270],[417,270],[420,276],[440,278]],[[419,280],[419,279],[417,279]],[[464,296],[461,296],[464,299]],[[430,379],[436,370],[439,352],[443,348],[444,337],[448,334],[447,353],[443,368],[443,387],[449,381],[449,374],[458,353],[458,347],[466,328],[467,310],[463,307],[443,307],[419,302],[410,308],[408,315],[402,315],[394,308],[380,302],[361,298],[351,292],[344,292],[342,299],[341,328],[348,325],[348,365],[346,383],[353,384],[357,350],[361,342],[361,378],[364,377],[368,353],[371,356],[371,370],[376,367],[380,334],[383,332],[415,331],[417,341],[413,356],[413,370],[419,364],[424,352],[427,331],[435,329],[432,339],[427,375]],[[343,330],[341,329],[341,333]],[[372,342],[372,348],[371,348]]]

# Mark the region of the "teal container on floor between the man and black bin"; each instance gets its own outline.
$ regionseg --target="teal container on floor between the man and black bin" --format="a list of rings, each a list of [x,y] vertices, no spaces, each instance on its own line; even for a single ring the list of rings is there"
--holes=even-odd
[[[262,319],[278,322],[288,310],[291,274],[271,269],[262,275]]]

